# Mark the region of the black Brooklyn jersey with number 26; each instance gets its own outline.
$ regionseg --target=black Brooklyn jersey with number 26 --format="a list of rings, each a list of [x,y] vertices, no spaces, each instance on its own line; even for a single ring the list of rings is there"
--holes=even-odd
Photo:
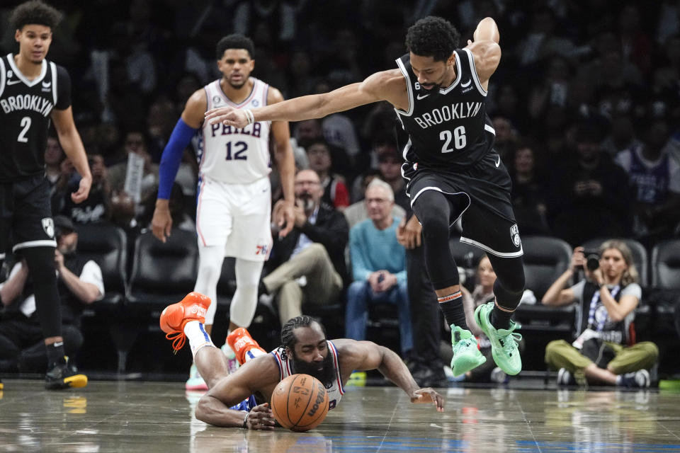
[[[403,150],[405,167],[455,171],[480,161],[494,146],[495,132],[472,52],[455,50],[456,79],[438,93],[420,87],[408,54],[397,59],[397,65],[409,95],[407,112],[395,108],[409,134]]]

